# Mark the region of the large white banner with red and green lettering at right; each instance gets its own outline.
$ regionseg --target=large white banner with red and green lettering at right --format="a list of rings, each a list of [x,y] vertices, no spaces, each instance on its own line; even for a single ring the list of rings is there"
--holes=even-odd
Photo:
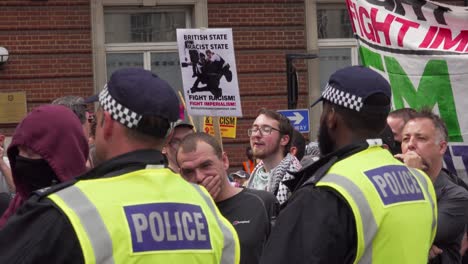
[[[446,122],[446,167],[467,180],[468,9],[430,1],[347,0],[364,65],[392,86],[393,107],[430,107]]]

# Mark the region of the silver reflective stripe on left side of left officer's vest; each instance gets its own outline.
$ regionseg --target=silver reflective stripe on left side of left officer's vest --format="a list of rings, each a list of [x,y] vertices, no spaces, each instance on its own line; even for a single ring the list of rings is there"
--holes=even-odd
[[[88,235],[88,239],[91,242],[95,263],[113,264],[112,239],[94,204],[76,186],[70,186],[60,190],[56,195],[60,197],[80,219]]]

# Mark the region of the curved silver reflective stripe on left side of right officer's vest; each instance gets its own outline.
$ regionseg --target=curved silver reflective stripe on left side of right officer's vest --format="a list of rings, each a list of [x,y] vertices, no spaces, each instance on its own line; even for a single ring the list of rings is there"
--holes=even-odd
[[[377,223],[364,193],[354,182],[338,174],[327,174],[320,182],[336,184],[345,189],[353,197],[361,215],[364,237],[364,252],[358,263],[372,263],[372,240],[377,234]]]

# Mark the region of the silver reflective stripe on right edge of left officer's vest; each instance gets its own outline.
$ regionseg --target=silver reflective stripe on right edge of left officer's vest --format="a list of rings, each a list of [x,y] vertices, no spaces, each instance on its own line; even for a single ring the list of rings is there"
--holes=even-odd
[[[192,184],[198,193],[205,199],[206,204],[211,209],[211,212],[216,217],[221,231],[223,232],[223,252],[221,253],[221,262],[220,264],[233,264],[236,259],[236,241],[231,230],[224,224],[224,222],[219,218],[218,213],[216,212],[215,205],[211,200],[211,197],[207,196],[197,184]]]

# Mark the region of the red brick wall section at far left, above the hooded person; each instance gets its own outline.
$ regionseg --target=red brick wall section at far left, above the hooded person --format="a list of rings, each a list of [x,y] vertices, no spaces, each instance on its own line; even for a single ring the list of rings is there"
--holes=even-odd
[[[28,110],[93,92],[89,0],[0,1],[0,92],[26,91]],[[11,135],[15,125],[0,124]]]

